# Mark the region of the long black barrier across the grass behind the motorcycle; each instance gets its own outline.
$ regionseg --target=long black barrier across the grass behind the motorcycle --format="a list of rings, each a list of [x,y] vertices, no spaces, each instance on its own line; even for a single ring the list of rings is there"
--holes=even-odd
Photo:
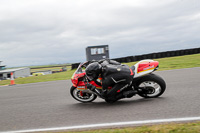
[[[182,56],[182,55],[190,55],[198,53],[200,53],[200,48],[193,48],[193,49],[157,52],[157,53],[150,53],[150,54],[136,55],[136,56],[127,56],[122,58],[114,58],[113,60],[118,61],[120,63],[128,63],[143,59],[158,59],[158,58],[174,57],[174,56]],[[72,64],[72,69],[78,68],[79,64],[80,63]]]

